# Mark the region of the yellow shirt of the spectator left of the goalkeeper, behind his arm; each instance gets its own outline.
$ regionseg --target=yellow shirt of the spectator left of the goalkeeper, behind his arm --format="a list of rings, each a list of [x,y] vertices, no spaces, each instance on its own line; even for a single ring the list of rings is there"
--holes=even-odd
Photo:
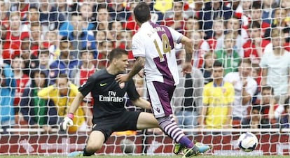
[[[57,106],[57,113],[60,117],[67,116],[67,110],[69,110],[69,106],[76,94],[78,93],[78,87],[72,83],[67,83],[69,90],[67,95],[61,95],[60,88],[55,85],[51,85],[49,87],[41,89],[38,95],[42,99],[52,99]],[[81,106],[74,113],[74,126],[69,127],[69,132],[75,132],[78,130],[78,127],[81,127],[85,124],[85,115],[83,113],[83,109]]]

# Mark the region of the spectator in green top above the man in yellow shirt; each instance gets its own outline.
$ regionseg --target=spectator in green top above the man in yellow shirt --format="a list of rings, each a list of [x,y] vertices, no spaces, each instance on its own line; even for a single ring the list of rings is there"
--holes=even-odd
[[[241,57],[239,56],[238,52],[235,51],[235,40],[233,39],[232,34],[226,34],[224,38],[223,49],[217,50],[215,53],[217,61],[223,64],[223,75],[237,71],[237,67],[240,64]]]

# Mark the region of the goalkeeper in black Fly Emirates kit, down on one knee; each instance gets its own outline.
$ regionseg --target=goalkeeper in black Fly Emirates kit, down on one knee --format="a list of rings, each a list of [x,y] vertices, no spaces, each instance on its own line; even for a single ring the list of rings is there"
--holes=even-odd
[[[113,131],[126,131],[137,129],[149,129],[159,127],[152,113],[127,111],[125,105],[125,93],[132,103],[141,108],[151,109],[149,101],[141,99],[134,81],[116,82],[116,75],[124,73],[128,66],[126,50],[116,48],[109,54],[110,65],[106,69],[95,72],[88,81],[78,88],[79,92],[69,107],[67,117],[60,124],[61,130],[73,125],[74,113],[81,105],[84,96],[91,92],[95,102],[93,107],[92,132],[88,138],[83,152],[71,152],[68,156],[90,156],[111,136]]]

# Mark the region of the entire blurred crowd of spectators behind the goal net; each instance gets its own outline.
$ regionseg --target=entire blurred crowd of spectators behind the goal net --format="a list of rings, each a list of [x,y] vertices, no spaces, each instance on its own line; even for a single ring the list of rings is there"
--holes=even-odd
[[[144,0],[151,21],[193,40],[172,106],[183,128],[289,128],[289,0]],[[137,0],[0,0],[0,125],[57,128],[108,52],[132,55]],[[184,49],[176,44],[182,66]],[[141,96],[144,78],[135,78]],[[86,96],[70,132],[92,125]],[[126,105],[132,108],[129,101]],[[134,134],[134,132],[132,132]]]

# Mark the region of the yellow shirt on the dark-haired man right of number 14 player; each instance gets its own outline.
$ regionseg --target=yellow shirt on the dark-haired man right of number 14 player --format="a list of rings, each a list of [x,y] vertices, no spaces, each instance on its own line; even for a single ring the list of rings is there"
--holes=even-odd
[[[209,82],[204,87],[203,103],[207,105],[205,124],[209,129],[221,129],[228,119],[229,106],[235,99],[235,89],[230,82],[221,86]]]

